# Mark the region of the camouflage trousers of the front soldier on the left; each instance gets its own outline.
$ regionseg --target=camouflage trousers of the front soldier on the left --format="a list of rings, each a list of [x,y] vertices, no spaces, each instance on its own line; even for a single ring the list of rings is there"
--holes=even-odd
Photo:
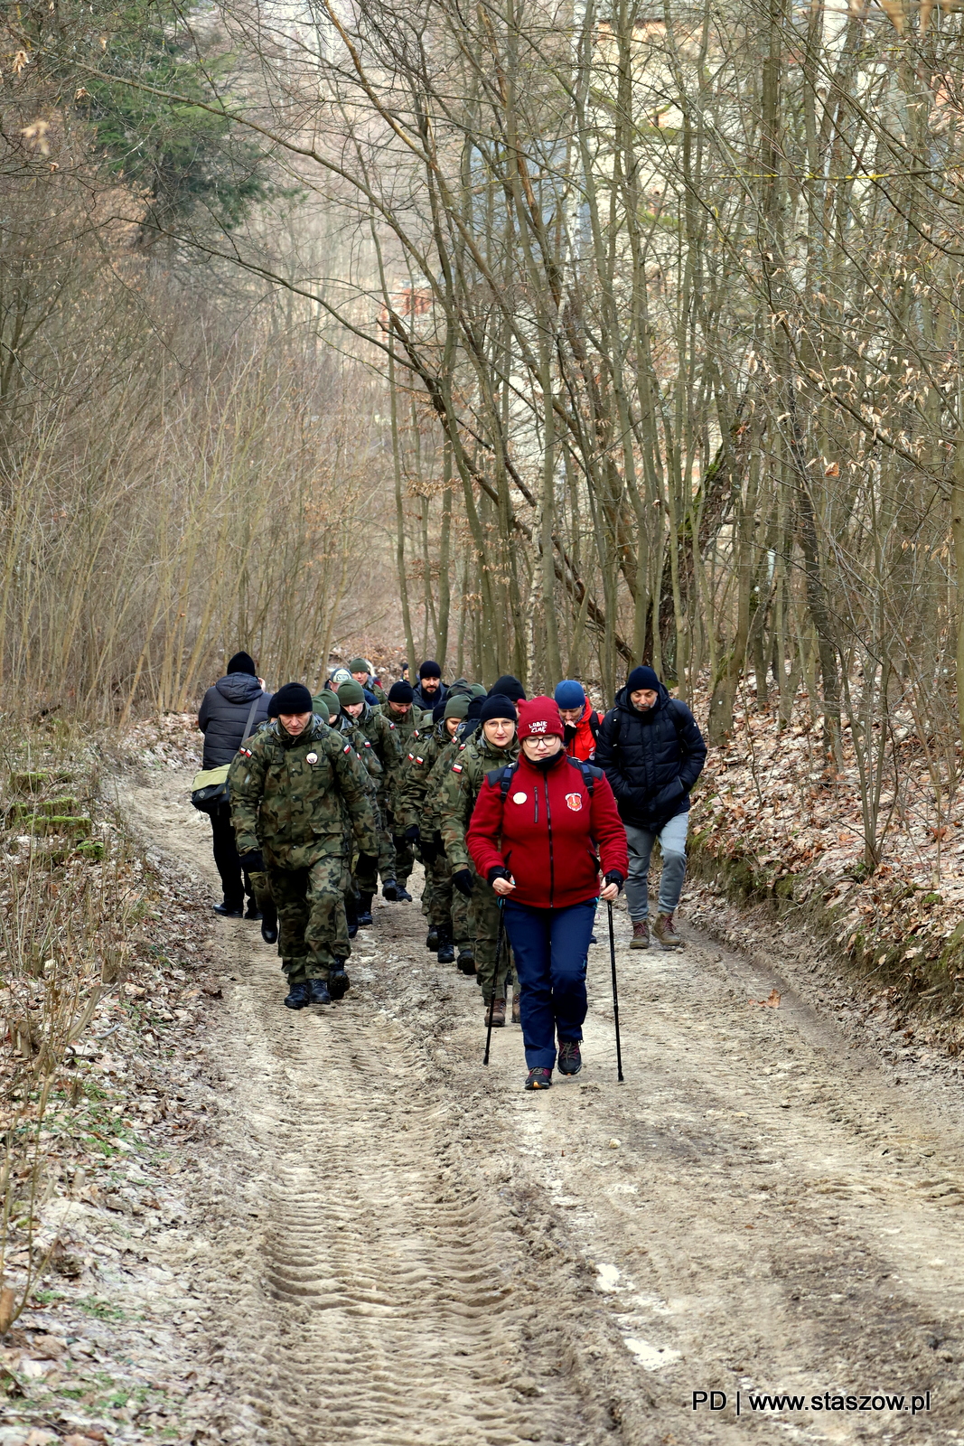
[[[277,869],[267,879],[277,908],[277,953],[292,983],[327,979],[351,953],[344,905],[345,860],[318,859],[309,869]]]

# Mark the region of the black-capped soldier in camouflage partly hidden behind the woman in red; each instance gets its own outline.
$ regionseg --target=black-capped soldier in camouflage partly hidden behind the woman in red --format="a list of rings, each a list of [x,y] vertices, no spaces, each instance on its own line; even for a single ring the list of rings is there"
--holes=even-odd
[[[503,940],[499,977],[496,953],[499,941],[499,902],[491,885],[478,878],[465,847],[465,830],[486,774],[513,763],[519,756],[516,707],[494,694],[481,706],[478,732],[452,759],[441,785],[442,842],[454,886],[468,898],[468,918],[475,937],[475,972],[486,1006],[494,995],[491,1022],[506,1022],[506,983],[512,982],[512,957]],[[513,1009],[513,1018],[516,1011]]]

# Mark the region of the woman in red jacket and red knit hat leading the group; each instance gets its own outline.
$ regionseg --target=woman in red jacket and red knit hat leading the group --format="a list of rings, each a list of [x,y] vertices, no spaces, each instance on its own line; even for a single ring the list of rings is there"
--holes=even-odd
[[[571,759],[562,737],[552,698],[520,703],[519,761],[486,775],[465,834],[477,870],[504,899],[522,991],[526,1089],[552,1084],[556,1035],[559,1071],[582,1069],[585,964],[600,868],[604,899],[616,898],[627,869],[626,830],[608,779]]]

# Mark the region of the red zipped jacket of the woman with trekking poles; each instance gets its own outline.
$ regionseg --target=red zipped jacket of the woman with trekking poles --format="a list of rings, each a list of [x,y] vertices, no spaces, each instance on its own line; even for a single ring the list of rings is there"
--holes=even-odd
[[[516,888],[510,898],[535,908],[568,908],[600,892],[603,873],[626,878],[626,830],[608,779],[594,769],[593,797],[582,769],[565,752],[543,771],[522,753],[502,801],[502,769],[486,775],[465,843],[483,878],[503,866]]]

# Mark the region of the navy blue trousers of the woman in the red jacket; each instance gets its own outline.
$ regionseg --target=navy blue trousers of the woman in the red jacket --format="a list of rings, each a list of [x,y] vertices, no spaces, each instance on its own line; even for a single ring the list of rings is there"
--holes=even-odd
[[[516,957],[522,1040],[530,1070],[555,1067],[556,1035],[582,1038],[585,962],[595,902],[532,908],[506,899],[506,934]]]

